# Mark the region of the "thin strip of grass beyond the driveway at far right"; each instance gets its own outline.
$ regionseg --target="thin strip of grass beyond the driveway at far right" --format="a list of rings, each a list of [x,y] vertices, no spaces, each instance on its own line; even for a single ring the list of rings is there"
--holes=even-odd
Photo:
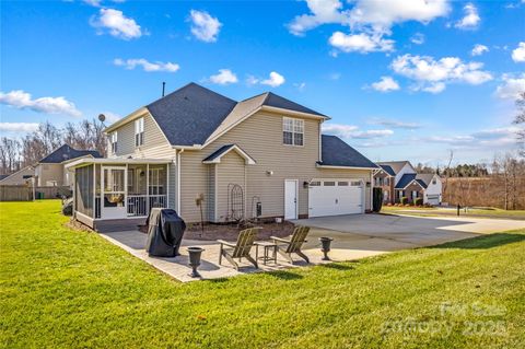
[[[427,207],[398,207],[398,206],[383,206],[381,209],[384,213],[407,213],[415,216],[456,216],[454,209],[443,208],[427,208]],[[488,218],[523,218],[525,219],[525,210],[502,210],[497,208],[487,209],[468,209],[468,212],[462,209],[460,216],[465,217],[488,217]]]

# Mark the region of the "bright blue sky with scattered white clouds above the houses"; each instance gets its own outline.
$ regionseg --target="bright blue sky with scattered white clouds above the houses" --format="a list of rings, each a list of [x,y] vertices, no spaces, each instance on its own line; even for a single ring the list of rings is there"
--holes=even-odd
[[[373,161],[515,149],[525,1],[2,1],[0,131],[115,119],[190,81],[332,119]]]

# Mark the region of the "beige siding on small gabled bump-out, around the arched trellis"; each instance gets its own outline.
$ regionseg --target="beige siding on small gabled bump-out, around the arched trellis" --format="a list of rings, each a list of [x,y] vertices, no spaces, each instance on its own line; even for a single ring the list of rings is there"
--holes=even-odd
[[[232,185],[240,185],[245,188],[245,160],[241,158],[235,151],[230,151],[222,156],[221,163],[217,164],[217,221],[224,222],[229,220],[229,193]],[[229,191],[230,190],[230,191]],[[245,206],[245,198],[243,198],[243,207]]]

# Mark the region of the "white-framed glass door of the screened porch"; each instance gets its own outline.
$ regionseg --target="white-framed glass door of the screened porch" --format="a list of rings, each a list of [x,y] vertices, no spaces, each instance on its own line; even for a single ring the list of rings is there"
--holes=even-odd
[[[102,167],[102,219],[121,219],[127,217],[126,188],[127,176],[124,166]]]

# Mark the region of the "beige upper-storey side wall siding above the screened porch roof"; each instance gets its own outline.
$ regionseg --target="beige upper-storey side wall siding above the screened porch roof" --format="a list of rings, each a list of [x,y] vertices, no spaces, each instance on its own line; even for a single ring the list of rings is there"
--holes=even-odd
[[[161,131],[155,120],[150,114],[144,117],[144,144],[135,147],[135,120],[120,126],[117,131],[117,153],[110,153],[110,147],[108,148],[109,158],[128,156],[133,158],[156,158],[156,159],[171,159],[175,156],[175,150],[167,142],[164,133]],[[107,135],[108,138],[110,133]]]

